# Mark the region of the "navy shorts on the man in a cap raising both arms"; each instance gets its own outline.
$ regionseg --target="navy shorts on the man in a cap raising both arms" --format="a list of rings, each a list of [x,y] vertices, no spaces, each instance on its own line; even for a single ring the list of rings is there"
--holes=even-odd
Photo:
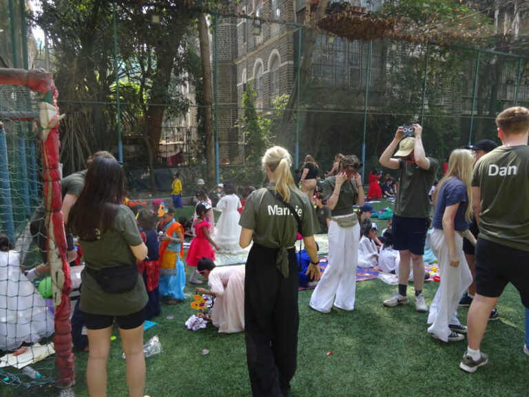
[[[430,226],[430,218],[406,218],[393,215],[393,249],[409,250],[415,255],[424,255],[426,232]]]

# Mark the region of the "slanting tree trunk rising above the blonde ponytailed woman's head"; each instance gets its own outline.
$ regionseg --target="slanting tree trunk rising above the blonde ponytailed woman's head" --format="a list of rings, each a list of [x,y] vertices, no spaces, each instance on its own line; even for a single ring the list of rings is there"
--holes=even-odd
[[[298,95],[300,94],[298,92],[298,85],[301,86],[305,83],[305,81],[307,81],[307,76],[311,68],[312,52],[316,43],[316,37],[318,37],[318,30],[315,29],[315,23],[316,21],[324,17],[325,9],[327,8],[327,3],[329,3],[329,0],[320,1],[320,3],[318,4],[318,8],[313,13],[314,17],[313,19],[311,19],[310,25],[304,29],[305,47],[303,48],[302,59],[299,60],[301,62],[300,73],[295,75],[294,83],[292,85],[292,91],[289,96],[289,102],[287,103],[287,107],[284,109],[283,112],[283,116],[279,126],[278,136],[276,139],[279,145],[284,145],[287,143],[289,125],[292,120],[295,105],[298,101]],[[298,120],[298,123],[299,122],[300,121]]]

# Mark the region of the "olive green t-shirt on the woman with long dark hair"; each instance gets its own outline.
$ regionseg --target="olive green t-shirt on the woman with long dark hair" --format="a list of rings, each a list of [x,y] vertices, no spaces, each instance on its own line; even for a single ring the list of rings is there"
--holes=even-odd
[[[140,245],[142,239],[136,218],[129,207],[121,205],[112,228],[101,234],[97,241],[82,241],[83,257],[90,267],[100,270],[105,267],[136,265],[136,257],[129,246]],[[107,294],[97,281],[83,270],[81,272],[81,310],[92,314],[125,316],[139,312],[147,304],[145,283],[138,272],[136,287],[123,294]]]

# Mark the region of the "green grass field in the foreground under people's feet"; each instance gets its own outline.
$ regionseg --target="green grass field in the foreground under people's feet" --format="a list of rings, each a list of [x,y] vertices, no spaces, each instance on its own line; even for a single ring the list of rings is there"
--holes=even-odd
[[[380,203],[379,206],[386,206]],[[186,269],[189,276],[189,268]],[[431,303],[438,284],[424,287]],[[527,396],[529,357],[523,354],[524,312],[517,291],[508,286],[501,296],[499,320],[490,322],[481,348],[489,354],[488,365],[475,374],[459,369],[466,340],[443,343],[426,333],[427,313],[413,304],[383,307],[396,287],[380,280],[357,283],[353,312],[333,309],[321,314],[309,309],[312,291],[299,293],[300,331],[298,371],[293,378],[293,397],[349,396]],[[194,286],[188,286],[194,294]],[[413,295],[413,287],[408,296]],[[157,335],[162,353],[146,359],[147,387],[151,397],[250,396],[245,361],[244,334],[218,334],[208,325],[197,332],[185,328],[194,314],[191,299],[174,306],[163,305],[153,320],[158,325],[145,332],[145,340]],[[413,300],[411,301],[413,302]],[[466,323],[468,309],[459,308]],[[174,318],[167,318],[174,316]],[[108,363],[108,396],[125,397],[125,360],[120,338],[112,342]],[[203,349],[209,354],[203,355]],[[333,352],[333,354],[329,354]],[[53,360],[53,359],[52,359]],[[52,366],[46,360],[42,365]],[[76,396],[88,396],[85,382],[87,353],[76,352]],[[34,367],[39,368],[39,364]],[[0,387],[0,396],[59,396],[54,387],[29,390]]]

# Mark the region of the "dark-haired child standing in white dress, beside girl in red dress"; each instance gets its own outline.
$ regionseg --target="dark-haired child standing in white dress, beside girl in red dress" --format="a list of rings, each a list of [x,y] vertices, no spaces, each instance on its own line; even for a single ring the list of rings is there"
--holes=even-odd
[[[222,252],[236,254],[242,251],[239,245],[240,214],[237,211],[242,205],[235,194],[234,185],[229,182],[225,183],[224,192],[225,196],[222,196],[215,207],[215,210],[222,211],[218,218],[215,242]]]

